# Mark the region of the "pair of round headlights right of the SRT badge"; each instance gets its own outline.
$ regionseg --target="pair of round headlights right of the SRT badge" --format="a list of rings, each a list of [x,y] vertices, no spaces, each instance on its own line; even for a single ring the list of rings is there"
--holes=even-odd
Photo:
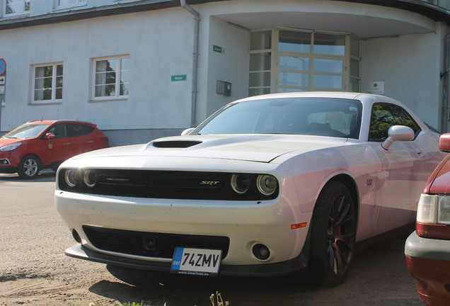
[[[233,174],[231,176],[231,189],[235,193],[244,194],[252,186],[252,180],[248,174]],[[277,191],[278,182],[275,176],[260,174],[255,181],[255,187],[262,196],[272,196]]]

